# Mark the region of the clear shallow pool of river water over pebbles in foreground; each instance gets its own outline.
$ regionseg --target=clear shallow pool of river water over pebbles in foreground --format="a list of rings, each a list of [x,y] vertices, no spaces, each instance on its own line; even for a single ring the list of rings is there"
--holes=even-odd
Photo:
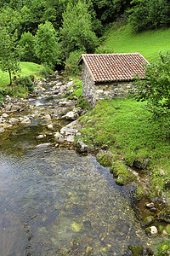
[[[150,246],[128,200],[133,188],[117,186],[93,154],[37,148],[42,129],[32,122],[0,142],[0,255],[122,255],[128,245]]]

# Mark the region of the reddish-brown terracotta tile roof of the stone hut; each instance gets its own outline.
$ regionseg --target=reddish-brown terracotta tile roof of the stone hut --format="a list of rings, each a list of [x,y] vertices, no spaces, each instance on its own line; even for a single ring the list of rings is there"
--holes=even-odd
[[[149,64],[139,53],[83,54],[77,65],[85,62],[94,82],[133,80],[133,74],[144,79],[144,64]]]

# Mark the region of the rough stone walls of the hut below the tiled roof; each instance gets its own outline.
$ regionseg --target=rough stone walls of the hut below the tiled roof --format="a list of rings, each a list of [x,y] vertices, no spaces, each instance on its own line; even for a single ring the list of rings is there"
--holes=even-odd
[[[88,100],[92,106],[96,102],[105,98],[125,97],[128,90],[133,90],[132,82],[112,82],[112,83],[94,83],[91,74],[85,63],[82,62],[82,96]]]

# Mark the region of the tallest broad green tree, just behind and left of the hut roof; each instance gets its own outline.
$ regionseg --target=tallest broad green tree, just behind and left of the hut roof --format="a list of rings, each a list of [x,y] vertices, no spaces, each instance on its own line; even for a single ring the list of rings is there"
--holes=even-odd
[[[98,39],[92,31],[91,16],[85,3],[68,4],[63,14],[60,38],[66,57],[74,50],[94,51]]]

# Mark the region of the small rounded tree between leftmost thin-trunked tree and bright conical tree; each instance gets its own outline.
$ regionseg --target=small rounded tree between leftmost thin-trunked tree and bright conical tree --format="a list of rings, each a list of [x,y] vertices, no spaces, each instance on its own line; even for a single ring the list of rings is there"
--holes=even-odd
[[[20,38],[20,59],[21,61],[36,62],[36,42],[31,32],[25,32]]]

